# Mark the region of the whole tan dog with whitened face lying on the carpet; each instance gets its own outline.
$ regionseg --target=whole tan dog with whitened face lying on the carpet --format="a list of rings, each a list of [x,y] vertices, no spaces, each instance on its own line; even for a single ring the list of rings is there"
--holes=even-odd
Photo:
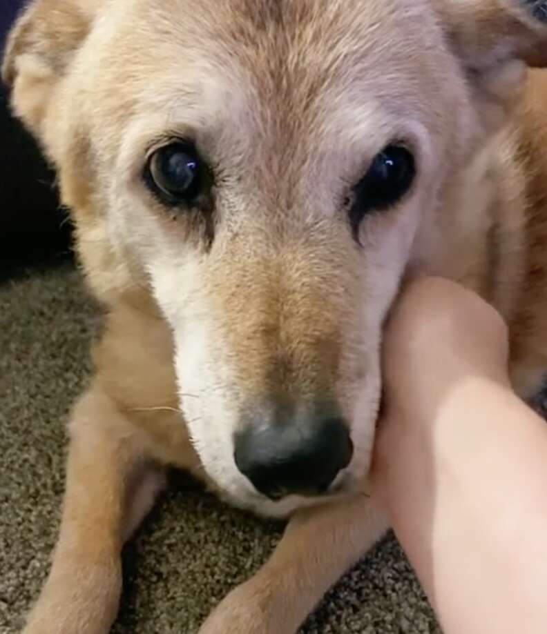
[[[542,0],[33,0],[3,62],[106,308],[25,634],[106,634],[120,551],[191,471],[290,517],[202,634],[293,634],[385,533],[367,497],[407,272],[547,370]],[[77,580],[77,582],[75,582]]]

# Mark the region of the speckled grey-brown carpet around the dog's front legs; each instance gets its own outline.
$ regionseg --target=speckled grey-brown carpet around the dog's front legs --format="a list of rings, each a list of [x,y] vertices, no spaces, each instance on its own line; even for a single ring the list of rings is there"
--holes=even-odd
[[[20,631],[46,575],[63,491],[64,422],[88,377],[88,341],[98,323],[69,264],[0,286],[0,634]],[[124,553],[114,633],[195,633],[211,607],[267,557],[279,530],[175,477]],[[303,632],[439,628],[399,547],[387,539],[334,588]]]

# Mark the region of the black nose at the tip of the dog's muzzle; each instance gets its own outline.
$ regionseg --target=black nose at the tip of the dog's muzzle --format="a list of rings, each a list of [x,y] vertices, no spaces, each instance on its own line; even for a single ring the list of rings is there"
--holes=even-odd
[[[251,417],[235,444],[238,469],[271,499],[326,493],[353,455],[341,417],[317,412],[287,417],[287,408]]]

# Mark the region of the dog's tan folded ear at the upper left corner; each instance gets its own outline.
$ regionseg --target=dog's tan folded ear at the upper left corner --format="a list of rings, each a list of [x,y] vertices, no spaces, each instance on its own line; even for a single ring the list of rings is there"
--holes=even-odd
[[[39,137],[50,97],[102,1],[33,0],[8,37],[2,79],[11,89],[15,113]]]

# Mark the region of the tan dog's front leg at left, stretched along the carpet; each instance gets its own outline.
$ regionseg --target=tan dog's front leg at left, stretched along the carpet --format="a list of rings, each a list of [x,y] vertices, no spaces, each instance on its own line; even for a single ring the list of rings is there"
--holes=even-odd
[[[124,540],[162,486],[124,416],[99,388],[75,408],[50,575],[23,634],[106,634],[122,588]]]

